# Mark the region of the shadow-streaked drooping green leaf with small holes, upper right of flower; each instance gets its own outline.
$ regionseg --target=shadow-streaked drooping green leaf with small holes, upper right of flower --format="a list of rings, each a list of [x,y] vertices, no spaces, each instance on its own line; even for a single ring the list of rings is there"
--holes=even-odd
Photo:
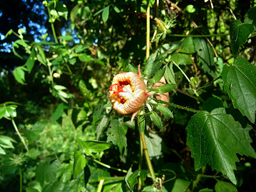
[[[199,61],[202,63],[203,70],[212,77],[215,77],[214,51],[211,45],[209,45],[204,38],[193,38],[193,44],[198,54]]]

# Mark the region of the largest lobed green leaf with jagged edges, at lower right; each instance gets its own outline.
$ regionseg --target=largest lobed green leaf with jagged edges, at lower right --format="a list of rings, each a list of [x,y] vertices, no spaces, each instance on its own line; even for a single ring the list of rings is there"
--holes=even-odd
[[[227,115],[225,108],[213,109],[211,113],[196,113],[189,120],[186,130],[187,145],[191,147],[196,171],[209,163],[212,170],[222,172],[236,184],[234,170],[239,161],[236,154],[256,157],[250,145],[250,129],[243,129],[239,122]]]

